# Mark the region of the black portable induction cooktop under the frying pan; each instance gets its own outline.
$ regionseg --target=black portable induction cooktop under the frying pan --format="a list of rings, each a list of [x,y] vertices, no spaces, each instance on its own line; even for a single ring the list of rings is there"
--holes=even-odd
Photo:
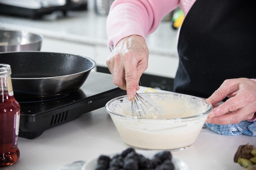
[[[34,139],[47,129],[76,119],[125,95],[112,82],[112,75],[93,72],[81,88],[71,93],[48,97],[16,97],[20,104],[19,137]],[[15,96],[15,91],[14,91]]]

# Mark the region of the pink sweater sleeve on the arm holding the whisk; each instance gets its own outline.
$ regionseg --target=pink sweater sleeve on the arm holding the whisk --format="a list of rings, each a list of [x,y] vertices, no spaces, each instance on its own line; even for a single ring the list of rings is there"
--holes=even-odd
[[[130,35],[145,39],[178,3],[179,0],[115,0],[106,23],[108,47]]]

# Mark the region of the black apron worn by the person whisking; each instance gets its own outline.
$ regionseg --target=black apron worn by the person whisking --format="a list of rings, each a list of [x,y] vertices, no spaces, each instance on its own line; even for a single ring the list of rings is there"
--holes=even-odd
[[[209,97],[225,79],[256,77],[253,0],[196,0],[178,41],[174,91]]]

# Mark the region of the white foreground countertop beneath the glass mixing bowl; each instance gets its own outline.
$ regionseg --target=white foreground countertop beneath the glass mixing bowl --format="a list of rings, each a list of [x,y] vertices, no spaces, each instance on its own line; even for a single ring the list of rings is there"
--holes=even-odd
[[[242,170],[233,162],[234,154],[238,146],[255,141],[256,137],[218,135],[203,128],[191,147],[172,154],[184,161],[189,170]],[[100,108],[45,130],[36,139],[19,137],[20,160],[0,170],[57,170],[74,161],[119,153],[127,147],[105,108]]]

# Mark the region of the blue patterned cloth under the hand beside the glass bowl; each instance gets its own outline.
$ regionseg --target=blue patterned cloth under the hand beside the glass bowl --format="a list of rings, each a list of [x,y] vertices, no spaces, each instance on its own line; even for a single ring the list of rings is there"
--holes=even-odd
[[[227,124],[227,125],[217,125],[217,124],[208,124],[206,125],[221,135],[249,135],[256,136],[256,121],[240,121],[238,124]]]

